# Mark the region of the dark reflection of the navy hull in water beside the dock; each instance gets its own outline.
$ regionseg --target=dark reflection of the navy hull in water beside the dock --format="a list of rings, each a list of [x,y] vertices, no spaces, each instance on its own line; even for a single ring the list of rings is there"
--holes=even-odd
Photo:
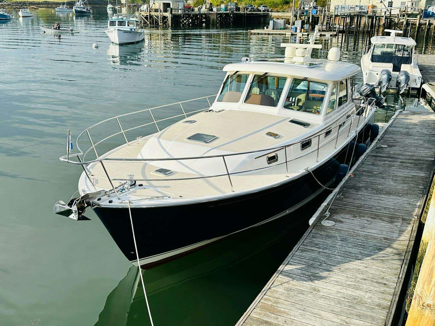
[[[234,325],[301,238],[327,195],[282,219],[142,270],[154,323]],[[147,325],[148,320],[140,275],[132,266],[107,296],[95,326]]]

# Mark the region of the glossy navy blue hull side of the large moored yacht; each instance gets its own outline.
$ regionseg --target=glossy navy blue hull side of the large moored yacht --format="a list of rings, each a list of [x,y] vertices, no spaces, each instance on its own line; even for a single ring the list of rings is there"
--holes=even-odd
[[[366,130],[365,140],[370,132]],[[358,142],[361,142],[359,140]],[[324,185],[334,181],[339,164],[351,165],[351,151],[345,146],[335,157],[313,171]],[[355,160],[355,156],[354,156]],[[142,263],[150,268],[185,255],[177,249],[213,240],[284,216],[286,212],[308,203],[323,191],[311,176],[305,174],[279,186],[230,198],[178,206],[131,208],[139,258],[149,257],[153,263]],[[109,231],[122,253],[130,261],[136,260],[128,208],[95,207],[95,213]],[[293,218],[289,213],[284,218]],[[218,240],[218,239],[216,239]],[[198,249],[195,247],[194,249]],[[193,250],[193,249],[192,249]],[[171,255],[174,252],[174,255]],[[166,253],[162,259],[157,256]],[[156,260],[157,259],[157,260]],[[147,259],[148,260],[148,259]]]

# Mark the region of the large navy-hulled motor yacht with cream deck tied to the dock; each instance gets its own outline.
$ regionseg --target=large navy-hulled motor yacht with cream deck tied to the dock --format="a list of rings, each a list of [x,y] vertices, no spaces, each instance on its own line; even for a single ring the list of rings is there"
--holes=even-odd
[[[84,171],[79,195],[57,202],[55,213],[81,220],[91,207],[127,259],[143,268],[296,218],[292,211],[356,160],[356,144],[375,136],[376,107],[372,93],[352,98],[360,69],[341,62],[338,48],[321,60],[310,56],[321,45],[281,45],[284,59],[226,65],[217,96],[104,120],[79,135],[77,146],[83,136],[91,144],[84,152],[71,153],[68,140],[60,160]],[[94,139],[106,123],[118,130]],[[147,127],[155,129],[131,139]],[[99,153],[112,136],[124,143]]]

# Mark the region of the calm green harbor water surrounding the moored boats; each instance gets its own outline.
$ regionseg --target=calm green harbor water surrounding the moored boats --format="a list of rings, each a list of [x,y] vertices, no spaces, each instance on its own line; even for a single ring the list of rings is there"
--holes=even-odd
[[[80,33],[40,32],[56,21]],[[81,173],[58,160],[65,129],[74,137],[110,116],[214,94],[226,63],[282,57],[280,43],[289,41],[244,30],[151,30],[143,43],[117,47],[106,25],[104,7],[94,7],[91,17],[44,9],[0,23],[2,326],[149,324],[135,270],[127,275],[131,264],[95,214],[88,210],[91,221],[75,222],[53,213],[57,200],[77,190]],[[336,38],[321,43],[321,57],[341,45]],[[361,46],[343,44],[343,58],[359,63]],[[389,103],[379,120],[400,106]],[[154,324],[233,325],[322,200],[144,272]]]

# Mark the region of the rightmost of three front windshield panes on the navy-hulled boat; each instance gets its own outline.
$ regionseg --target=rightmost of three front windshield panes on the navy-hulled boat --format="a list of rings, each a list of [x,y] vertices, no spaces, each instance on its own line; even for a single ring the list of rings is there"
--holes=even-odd
[[[293,78],[284,109],[320,114],[328,84]]]

